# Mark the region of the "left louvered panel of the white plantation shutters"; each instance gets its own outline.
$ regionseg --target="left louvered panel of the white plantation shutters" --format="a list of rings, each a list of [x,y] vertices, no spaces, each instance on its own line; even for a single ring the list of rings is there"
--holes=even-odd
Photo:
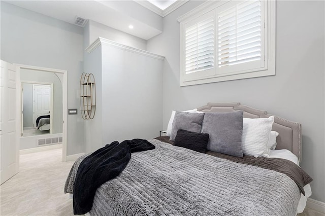
[[[214,66],[214,18],[210,17],[185,29],[185,74]]]

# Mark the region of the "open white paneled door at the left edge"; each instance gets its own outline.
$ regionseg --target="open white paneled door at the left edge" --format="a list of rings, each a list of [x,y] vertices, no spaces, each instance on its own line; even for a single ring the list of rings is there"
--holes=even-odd
[[[16,66],[1,60],[0,74],[0,178],[3,184],[19,171]],[[20,109],[19,109],[20,110]]]

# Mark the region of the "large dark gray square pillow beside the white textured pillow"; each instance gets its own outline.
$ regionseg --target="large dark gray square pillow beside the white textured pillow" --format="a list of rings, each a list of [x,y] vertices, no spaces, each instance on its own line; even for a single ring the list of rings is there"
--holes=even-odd
[[[206,113],[202,133],[209,133],[207,150],[243,157],[243,111]]]

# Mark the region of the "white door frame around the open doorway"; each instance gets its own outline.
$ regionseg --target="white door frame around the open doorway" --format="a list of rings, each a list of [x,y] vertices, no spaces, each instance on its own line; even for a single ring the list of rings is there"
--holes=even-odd
[[[47,67],[39,67],[39,66],[32,66],[32,65],[24,65],[24,64],[14,64],[17,66],[17,71],[20,75],[21,69],[30,69],[30,70],[38,70],[44,71],[45,73],[55,73],[61,74],[62,79],[58,76],[62,84],[62,161],[67,161],[67,123],[68,123],[68,70],[61,70],[61,69],[54,69],[54,68],[47,68]],[[21,82],[20,80],[17,81],[19,88],[21,89]],[[17,104],[20,104],[21,107],[21,94],[19,94],[19,98]],[[20,123],[21,123],[21,115],[19,115]],[[21,134],[19,134],[20,137]]]

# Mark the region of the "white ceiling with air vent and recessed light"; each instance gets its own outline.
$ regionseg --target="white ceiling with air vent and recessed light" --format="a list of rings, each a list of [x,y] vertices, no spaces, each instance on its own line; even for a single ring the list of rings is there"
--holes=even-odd
[[[150,2],[151,3],[150,3]],[[136,37],[148,40],[162,32],[162,19],[167,13],[180,7],[188,0],[148,0],[148,1],[5,1],[9,4],[25,8],[30,11],[44,14],[62,21],[75,24],[76,17],[85,20],[93,20],[106,26],[118,29],[120,31],[132,34]],[[124,5],[123,5],[124,4]],[[128,11],[125,7],[128,4]],[[148,15],[157,16],[155,23],[152,19],[146,19],[146,16],[137,12],[130,13],[130,7],[133,11],[139,10],[147,12]],[[139,8],[141,7],[141,8]],[[146,9],[144,9],[145,7]],[[151,10],[155,14],[152,14]],[[151,14],[150,14],[151,13]],[[142,18],[141,18],[142,16]],[[147,21],[146,21],[147,20]],[[159,23],[160,22],[160,23]],[[133,25],[130,29],[128,26]]]

